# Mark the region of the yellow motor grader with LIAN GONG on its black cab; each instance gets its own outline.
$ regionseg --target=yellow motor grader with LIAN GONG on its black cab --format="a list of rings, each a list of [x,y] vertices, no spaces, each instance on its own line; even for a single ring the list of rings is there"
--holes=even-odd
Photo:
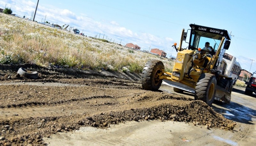
[[[233,81],[232,77],[224,75],[226,65],[222,64],[231,40],[228,31],[196,24],[189,26],[191,29],[187,32],[182,30],[179,47],[177,43],[173,45],[177,57],[172,72],[164,71],[164,64],[159,60],[148,61],[141,75],[142,88],[158,90],[164,81],[175,92],[193,93],[195,100],[202,100],[209,106],[214,99],[230,103]],[[183,41],[188,47],[182,48]],[[212,47],[207,46],[209,43]]]

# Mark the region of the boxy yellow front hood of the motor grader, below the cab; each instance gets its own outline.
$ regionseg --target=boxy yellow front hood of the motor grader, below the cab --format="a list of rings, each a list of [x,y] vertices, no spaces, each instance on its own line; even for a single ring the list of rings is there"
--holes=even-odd
[[[193,50],[178,51],[172,70],[172,80],[183,80],[185,73],[188,73],[188,69],[191,66],[192,55],[194,53]]]

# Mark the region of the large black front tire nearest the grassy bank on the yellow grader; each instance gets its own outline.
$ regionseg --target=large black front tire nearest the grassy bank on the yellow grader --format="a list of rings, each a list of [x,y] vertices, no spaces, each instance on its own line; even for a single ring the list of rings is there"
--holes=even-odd
[[[158,73],[161,73],[162,69],[164,70],[163,62],[159,60],[148,61],[141,75],[142,88],[151,91],[158,90],[163,82],[158,76]]]

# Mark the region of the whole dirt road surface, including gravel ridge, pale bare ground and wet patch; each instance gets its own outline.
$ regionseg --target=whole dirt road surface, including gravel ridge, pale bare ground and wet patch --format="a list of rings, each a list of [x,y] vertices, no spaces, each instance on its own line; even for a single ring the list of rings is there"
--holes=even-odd
[[[16,75],[19,67],[39,78]],[[142,90],[131,73],[11,65],[0,77],[0,145],[249,145],[256,137],[256,98],[235,88],[231,104],[211,108],[166,85]]]

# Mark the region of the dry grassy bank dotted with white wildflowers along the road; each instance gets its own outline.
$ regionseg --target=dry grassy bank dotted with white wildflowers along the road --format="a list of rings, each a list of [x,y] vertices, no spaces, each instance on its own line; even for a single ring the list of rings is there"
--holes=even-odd
[[[3,13],[0,13],[0,50],[2,64],[33,63],[141,73],[148,60],[158,59],[166,71],[172,71],[173,67],[173,61],[166,58]]]

